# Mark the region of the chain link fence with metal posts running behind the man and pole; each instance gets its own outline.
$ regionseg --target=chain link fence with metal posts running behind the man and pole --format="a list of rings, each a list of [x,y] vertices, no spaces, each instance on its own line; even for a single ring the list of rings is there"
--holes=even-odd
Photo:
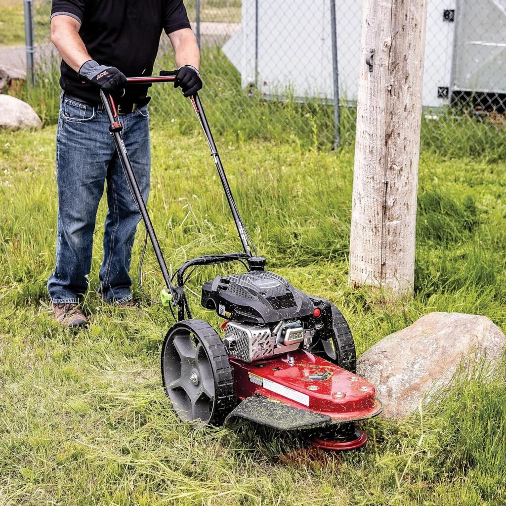
[[[323,149],[353,144],[358,72],[366,64],[361,0],[185,4],[201,49],[202,99],[218,135]],[[49,40],[51,2],[32,5],[35,78],[47,79],[59,61]],[[443,155],[504,154],[506,0],[428,0],[426,38],[422,146]],[[174,67],[163,34],[154,71]],[[180,94],[153,87],[151,95],[155,117],[196,128]]]

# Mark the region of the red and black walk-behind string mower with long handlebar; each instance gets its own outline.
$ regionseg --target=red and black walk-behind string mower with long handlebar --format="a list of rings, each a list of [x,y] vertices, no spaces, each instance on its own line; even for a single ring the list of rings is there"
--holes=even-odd
[[[174,81],[176,72],[130,77],[129,84]],[[190,97],[216,163],[243,252],[185,262],[171,278],[121,138],[114,99],[101,92],[110,132],[153,245],[166,288],[162,303],[177,308],[161,351],[163,387],[181,420],[227,425],[238,418],[281,430],[304,430],[312,444],[359,448],[367,436],[356,422],[377,415],[374,387],[357,376],[350,328],[330,302],[309,296],[266,270],[266,259],[244,227],[198,94]],[[201,303],[223,318],[223,339],[192,318],[185,282],[198,266],[239,262],[241,274],[216,276],[202,286]],[[174,282],[176,280],[176,282]],[[174,312],[173,312],[174,315]]]

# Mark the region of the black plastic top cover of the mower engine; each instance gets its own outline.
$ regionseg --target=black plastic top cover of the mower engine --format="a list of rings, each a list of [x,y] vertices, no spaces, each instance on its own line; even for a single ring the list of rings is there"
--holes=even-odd
[[[269,271],[217,276],[202,286],[202,306],[238,323],[269,324],[312,315],[309,296]]]

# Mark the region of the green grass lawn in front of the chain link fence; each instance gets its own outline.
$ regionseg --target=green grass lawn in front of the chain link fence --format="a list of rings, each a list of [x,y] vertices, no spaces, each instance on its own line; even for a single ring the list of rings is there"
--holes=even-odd
[[[156,126],[149,207],[171,268],[237,250],[203,137],[179,119]],[[55,126],[0,133],[0,504],[506,503],[503,365],[457,377],[441,404],[399,423],[364,424],[370,441],[357,453],[308,450],[300,438],[251,426],[236,433],[180,424],[158,369],[171,318],[157,307],[123,311],[99,300],[101,226],[84,303],[91,327],[60,328],[45,288],[55,254],[54,135]],[[217,140],[269,267],[340,307],[359,353],[431,311],[483,314],[506,328],[503,160],[422,155],[415,298],[384,307],[347,287],[351,152],[304,149],[293,138]],[[104,215],[102,205],[98,223]],[[190,287],[198,291],[216,272],[199,273]],[[151,252],[144,278],[156,295]],[[191,303],[195,316],[216,321],[196,296]]]

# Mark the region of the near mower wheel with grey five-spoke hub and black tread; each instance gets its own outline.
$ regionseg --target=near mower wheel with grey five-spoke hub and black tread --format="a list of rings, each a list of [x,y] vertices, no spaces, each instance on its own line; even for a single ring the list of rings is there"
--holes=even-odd
[[[203,320],[175,323],[161,351],[165,393],[181,420],[220,426],[235,407],[232,368],[223,341]]]

